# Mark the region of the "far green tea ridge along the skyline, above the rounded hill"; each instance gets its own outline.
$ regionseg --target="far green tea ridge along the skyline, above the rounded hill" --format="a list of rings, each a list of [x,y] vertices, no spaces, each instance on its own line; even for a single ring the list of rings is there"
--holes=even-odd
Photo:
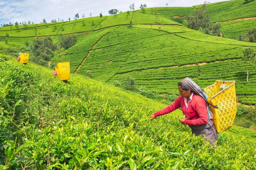
[[[40,37],[40,36],[56,36],[60,34],[86,33],[92,30],[100,30],[111,26],[130,25],[132,24],[177,24],[181,25],[184,16],[194,15],[202,5],[193,7],[158,7],[145,8],[142,10],[123,12],[114,16],[90,17],[74,21],[58,22],[58,23],[37,23],[28,25],[18,25],[0,27],[0,36],[12,37]],[[221,22],[224,24],[222,32],[226,35],[236,27],[235,32],[245,33],[245,28],[252,29],[255,27],[255,8],[254,0],[245,3],[245,0],[232,0],[219,3],[211,3],[206,5],[206,15],[209,15],[210,21],[213,23]],[[173,20],[171,20],[173,19]],[[245,20],[245,28],[236,26],[236,23],[226,22],[237,20]],[[176,21],[176,22],[175,22]],[[248,30],[247,30],[248,31]],[[232,35],[233,36],[233,35]],[[228,36],[228,38],[232,38]],[[11,39],[9,42],[13,42]],[[18,42],[18,41],[16,41]],[[1,45],[2,46],[2,45]]]

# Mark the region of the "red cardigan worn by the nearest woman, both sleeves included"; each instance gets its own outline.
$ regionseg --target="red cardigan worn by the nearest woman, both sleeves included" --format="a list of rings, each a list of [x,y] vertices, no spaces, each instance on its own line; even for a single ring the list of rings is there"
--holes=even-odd
[[[171,113],[180,107],[183,114],[188,118],[184,122],[185,125],[203,125],[208,123],[206,102],[197,94],[193,95],[192,100],[188,103],[188,108],[186,108],[184,98],[179,96],[171,105],[154,113],[154,116],[157,117]]]

